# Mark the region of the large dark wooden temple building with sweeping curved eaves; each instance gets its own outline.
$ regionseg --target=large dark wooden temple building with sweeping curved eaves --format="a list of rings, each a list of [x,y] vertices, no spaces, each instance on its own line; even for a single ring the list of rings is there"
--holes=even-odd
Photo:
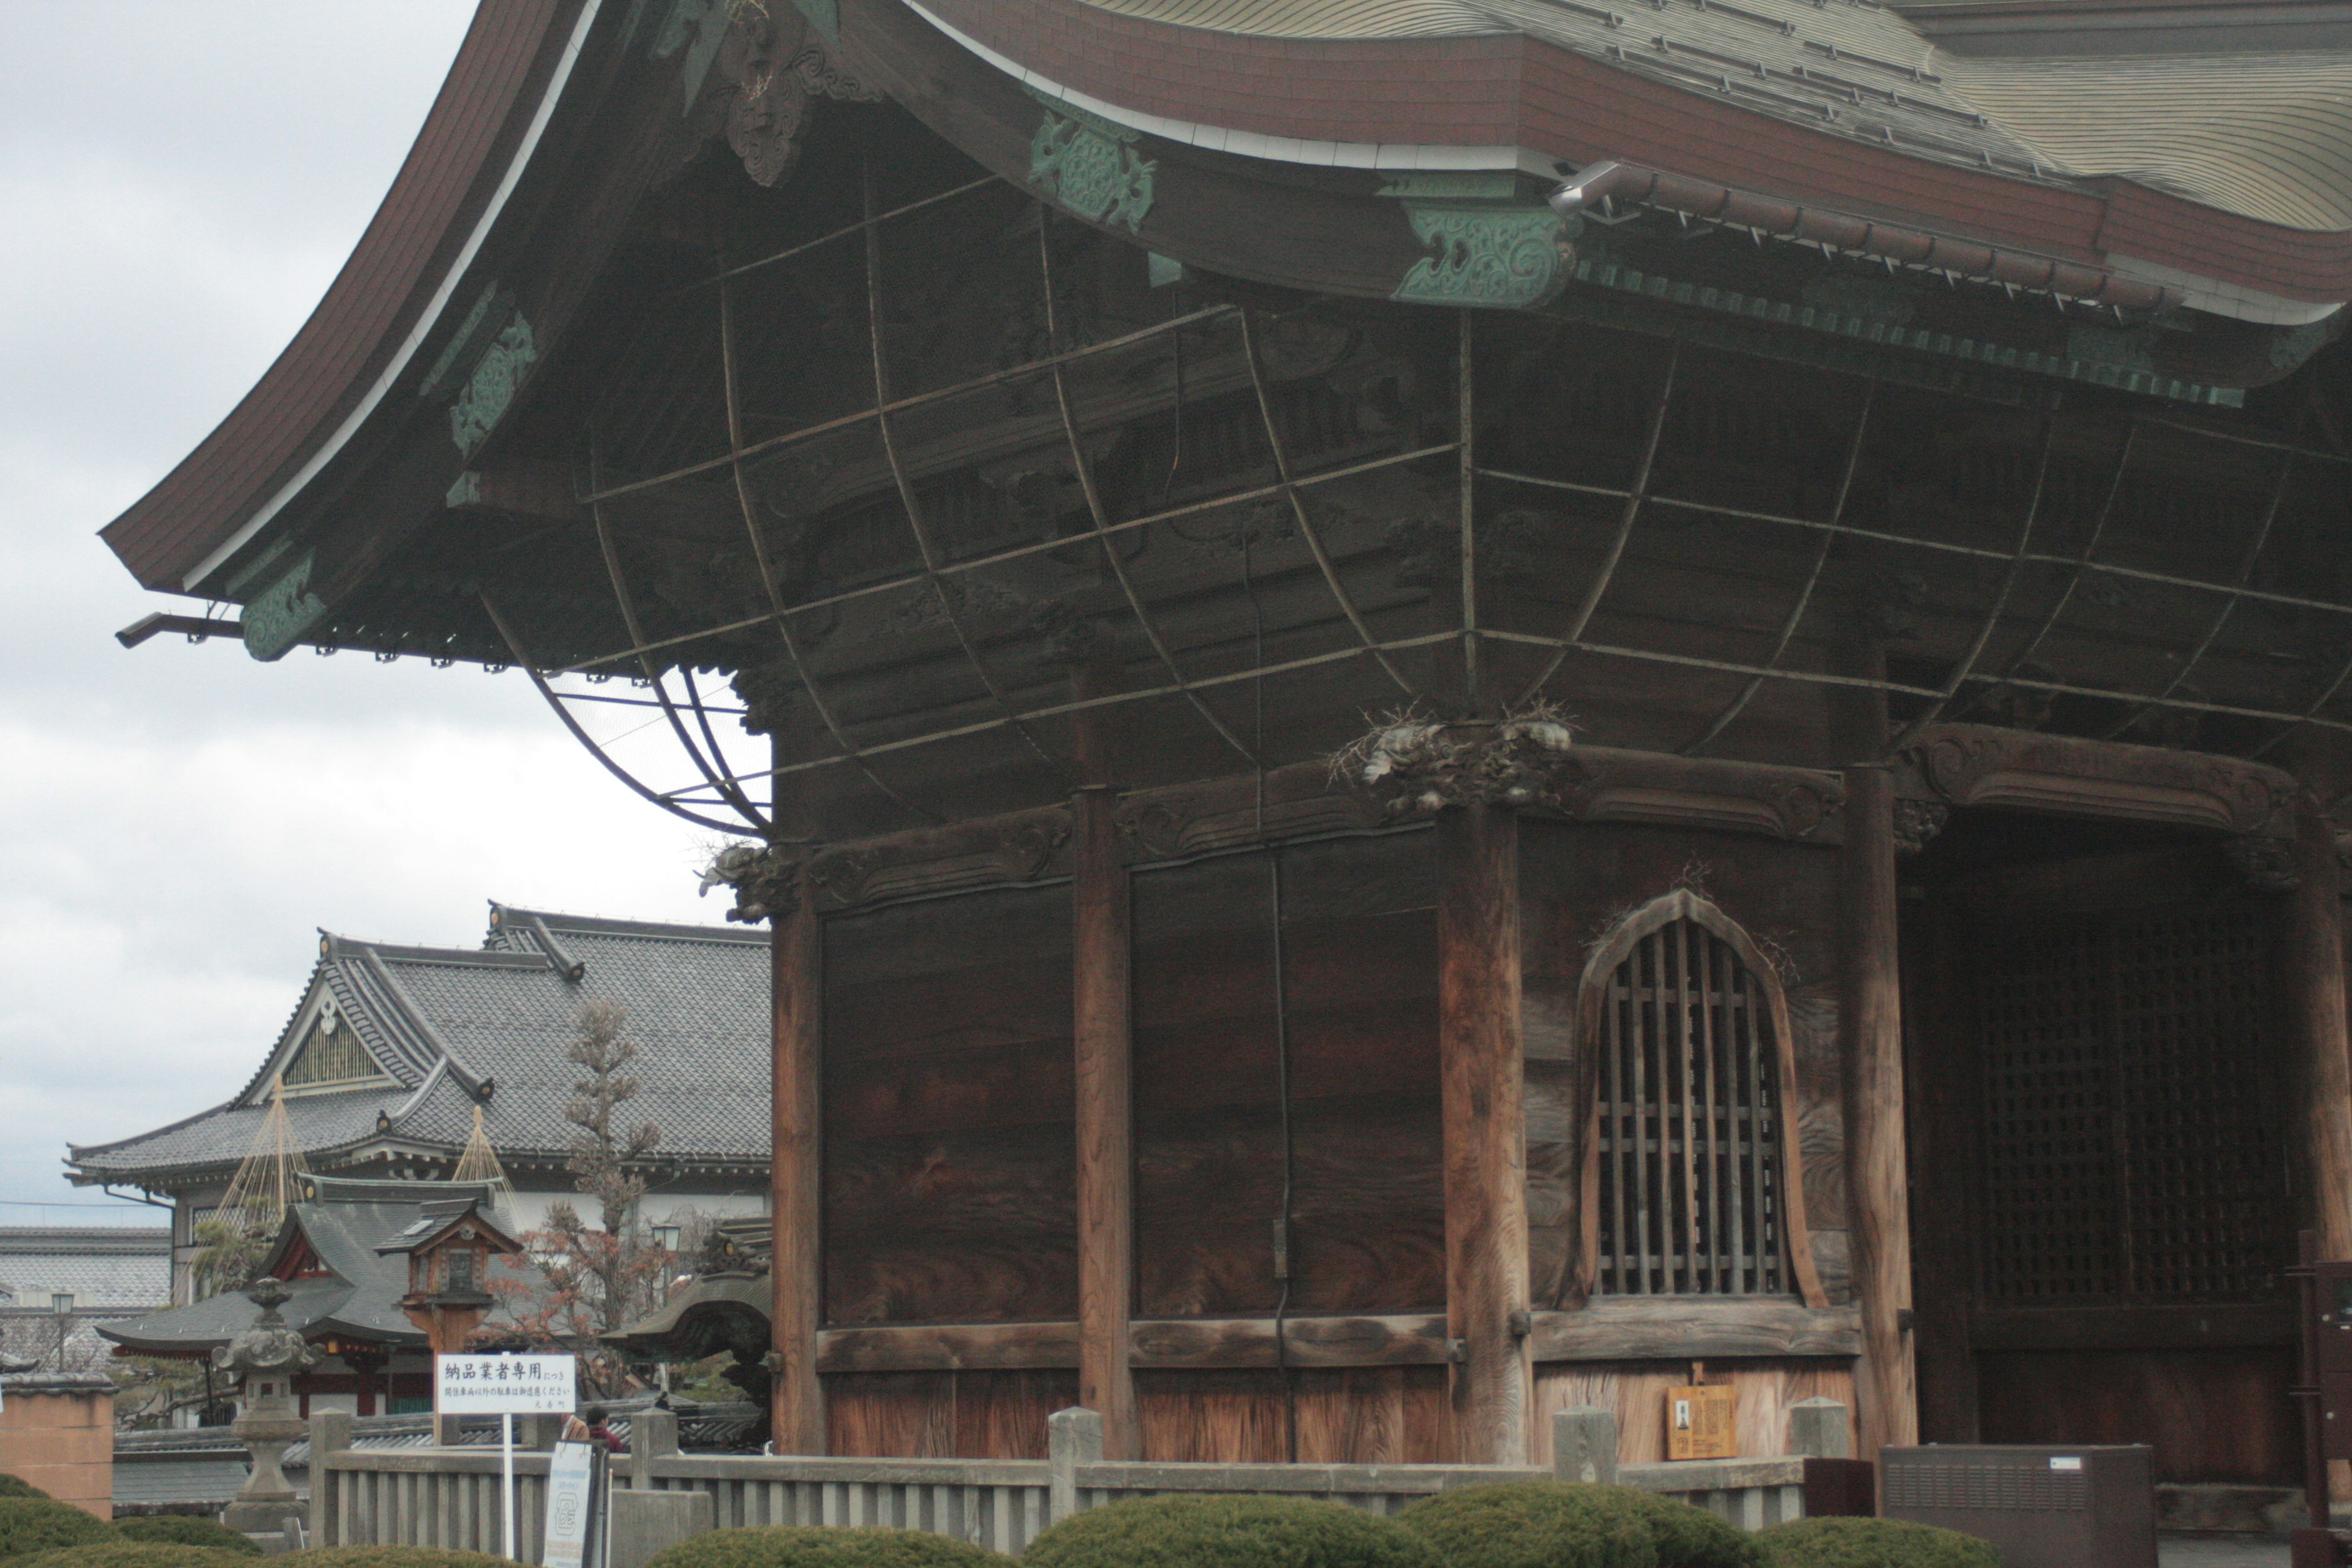
[[[106,531],[240,618],[125,639],[517,668],[741,835],[779,1450],[1656,1460],[1703,1380],[1743,1453],[1832,1394],[2291,1486],[2347,71],[2218,2],[501,0]]]

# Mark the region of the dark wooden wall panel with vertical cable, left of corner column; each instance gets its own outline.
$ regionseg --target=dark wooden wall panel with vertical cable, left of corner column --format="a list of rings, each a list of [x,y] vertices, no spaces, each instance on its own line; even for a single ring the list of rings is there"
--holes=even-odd
[[[1291,1312],[1444,1302],[1435,839],[1282,851]],[[1265,853],[1134,900],[1136,1312],[1272,1312],[1282,1117]]]

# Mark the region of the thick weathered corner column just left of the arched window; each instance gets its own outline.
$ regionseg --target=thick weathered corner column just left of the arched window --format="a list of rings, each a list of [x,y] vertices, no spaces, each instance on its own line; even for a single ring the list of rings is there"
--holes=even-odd
[[[1526,1465],[1526,1112],[1519,1041],[1519,823],[1439,818],[1437,1030],[1444,1093],[1446,1335],[1465,1465]]]

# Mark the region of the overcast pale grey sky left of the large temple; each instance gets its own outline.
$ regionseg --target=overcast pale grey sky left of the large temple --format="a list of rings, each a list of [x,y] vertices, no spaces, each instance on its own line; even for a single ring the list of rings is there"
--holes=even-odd
[[[520,675],[113,642],[198,607],[141,592],[96,529],[318,303],[470,14],[0,0],[0,1225],[158,1218],[85,1208],[66,1143],[242,1086],[320,926],[475,945],[487,898],[722,914],[694,896],[703,835]]]

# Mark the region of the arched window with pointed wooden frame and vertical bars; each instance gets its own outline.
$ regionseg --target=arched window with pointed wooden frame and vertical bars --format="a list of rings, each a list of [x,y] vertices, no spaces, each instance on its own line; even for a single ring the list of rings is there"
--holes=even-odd
[[[1686,889],[1653,900],[1585,964],[1581,1034],[1590,1293],[1823,1305],[1788,1001],[1748,933]]]

